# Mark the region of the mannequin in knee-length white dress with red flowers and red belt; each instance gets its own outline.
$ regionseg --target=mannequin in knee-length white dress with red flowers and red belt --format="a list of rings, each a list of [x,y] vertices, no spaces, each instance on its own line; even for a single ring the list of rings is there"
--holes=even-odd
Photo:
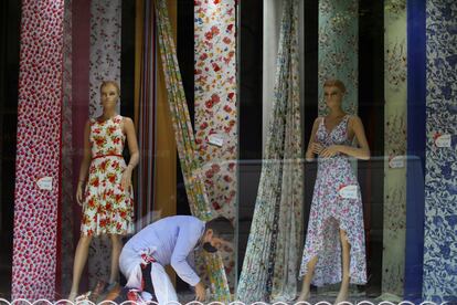
[[[139,160],[135,126],[130,118],[116,113],[119,99],[117,83],[103,82],[100,97],[103,115],[89,119],[84,130],[84,158],[76,189],[76,201],[83,207],[83,217],[73,265],[73,284],[68,296],[71,301],[77,295],[92,238],[102,234],[110,236],[109,283],[115,283],[123,248],[120,239],[134,232],[131,171]],[[128,165],[123,157],[126,140],[130,151]]]

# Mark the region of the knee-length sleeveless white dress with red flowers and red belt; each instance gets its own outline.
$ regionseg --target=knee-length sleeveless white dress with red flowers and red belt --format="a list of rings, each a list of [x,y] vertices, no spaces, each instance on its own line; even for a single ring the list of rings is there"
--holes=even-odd
[[[134,192],[123,189],[126,136],[123,117],[91,119],[92,161],[84,192],[81,233],[84,235],[129,234],[134,232]]]

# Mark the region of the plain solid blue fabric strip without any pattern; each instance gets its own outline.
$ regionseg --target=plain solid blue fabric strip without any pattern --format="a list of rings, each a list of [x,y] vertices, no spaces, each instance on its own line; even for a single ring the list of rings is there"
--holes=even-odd
[[[404,299],[421,303],[424,262],[426,146],[426,3],[406,1],[407,162]]]

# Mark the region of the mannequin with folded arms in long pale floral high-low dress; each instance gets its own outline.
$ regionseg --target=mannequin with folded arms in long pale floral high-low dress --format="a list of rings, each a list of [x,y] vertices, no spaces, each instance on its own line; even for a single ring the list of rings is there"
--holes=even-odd
[[[359,117],[341,108],[346,93],[338,80],[323,85],[329,114],[315,120],[306,159],[318,157],[318,173],[301,260],[302,290],[341,282],[336,304],[348,299],[349,284],[366,282],[363,209],[359,182],[348,157],[369,159],[370,149]],[[357,139],[359,147],[351,144]]]

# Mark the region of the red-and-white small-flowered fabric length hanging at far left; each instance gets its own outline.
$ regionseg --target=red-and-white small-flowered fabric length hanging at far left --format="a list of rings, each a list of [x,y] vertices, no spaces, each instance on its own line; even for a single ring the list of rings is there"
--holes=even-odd
[[[24,0],[21,13],[11,298],[34,302],[56,284],[64,1]]]

